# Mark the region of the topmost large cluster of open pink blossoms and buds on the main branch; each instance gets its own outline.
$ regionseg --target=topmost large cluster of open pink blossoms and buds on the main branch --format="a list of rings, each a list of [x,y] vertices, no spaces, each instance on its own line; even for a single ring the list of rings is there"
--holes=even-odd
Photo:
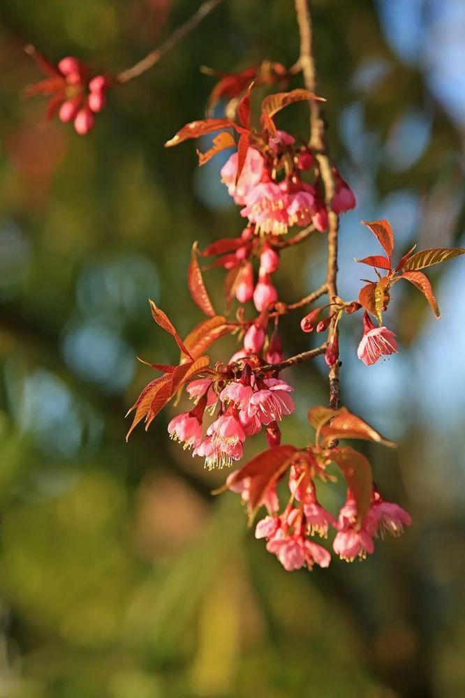
[[[327,209],[309,147],[297,147],[292,135],[276,131],[267,140],[256,139],[247,149],[239,177],[238,161],[237,153],[230,156],[221,179],[256,233],[283,235],[293,225],[311,224],[320,232],[327,230]],[[304,181],[303,172],[312,171],[313,182]],[[341,213],[355,207],[355,195],[339,172],[334,172],[332,209]]]

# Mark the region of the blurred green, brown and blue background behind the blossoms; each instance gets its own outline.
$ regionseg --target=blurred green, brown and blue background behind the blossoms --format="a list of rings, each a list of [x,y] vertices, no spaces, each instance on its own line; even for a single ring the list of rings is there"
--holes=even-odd
[[[86,138],[24,100],[40,78],[24,43],[117,72],[197,2],[2,0],[0,6],[0,696],[2,698],[459,698],[465,694],[465,272],[434,267],[443,318],[396,286],[386,316],[401,352],[367,369],[346,318],[346,406],[397,452],[367,445],[386,498],[414,524],[366,563],[288,574],[253,539],[239,498],[166,437],[168,408],[126,445],[124,413],[152,379],[135,356],[177,349],[152,297],[185,334],[200,321],[189,250],[242,221],[193,144],[163,142],[200,118],[198,68],[294,63],[293,3],[228,0],[139,80],[115,89]],[[397,251],[464,245],[463,0],[316,0],[319,91],[330,147],[359,205],[341,226],[340,292],[377,251],[360,219],[388,217]],[[295,85],[297,86],[297,79]],[[258,94],[258,98],[261,95]],[[307,136],[305,105],[282,124]],[[224,155],[224,154],[223,154]],[[285,300],[324,274],[323,238],[288,251]],[[369,273],[369,272],[368,272]],[[208,278],[221,293],[221,274]],[[283,323],[286,352],[315,341]],[[224,341],[221,355],[234,346]],[[220,355],[220,354],[219,354]],[[304,445],[325,403],[318,359],[288,375]],[[256,438],[252,452],[263,443]],[[342,484],[325,503],[337,507]],[[332,497],[332,498],[331,498]]]

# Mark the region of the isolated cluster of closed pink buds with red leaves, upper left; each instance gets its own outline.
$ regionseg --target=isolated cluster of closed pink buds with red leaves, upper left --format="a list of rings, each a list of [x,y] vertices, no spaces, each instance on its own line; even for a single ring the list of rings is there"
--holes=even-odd
[[[89,68],[79,59],[68,56],[57,66],[47,61],[33,48],[28,52],[47,77],[27,88],[27,94],[49,96],[47,116],[58,115],[64,123],[73,122],[75,131],[86,135],[94,126],[95,114],[106,104],[106,92],[112,82],[106,75],[89,75]]]

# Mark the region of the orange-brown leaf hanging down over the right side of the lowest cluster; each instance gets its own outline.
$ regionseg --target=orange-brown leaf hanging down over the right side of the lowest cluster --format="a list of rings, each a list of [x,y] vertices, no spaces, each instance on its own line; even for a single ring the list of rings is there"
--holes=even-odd
[[[341,469],[348,487],[355,497],[357,504],[357,524],[361,526],[369,510],[373,493],[373,475],[371,466],[365,456],[354,451],[349,446],[334,448],[331,459]]]

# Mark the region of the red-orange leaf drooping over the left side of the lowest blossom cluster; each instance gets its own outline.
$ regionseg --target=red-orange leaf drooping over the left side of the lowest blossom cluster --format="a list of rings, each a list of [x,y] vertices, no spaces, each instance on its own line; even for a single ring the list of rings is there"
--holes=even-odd
[[[267,489],[287,470],[290,461],[297,452],[298,450],[295,446],[274,446],[267,451],[259,453],[258,456],[255,456],[243,468],[237,470],[232,475],[229,484],[241,482],[245,477],[250,478],[250,498],[247,502],[250,521],[255,516]]]

